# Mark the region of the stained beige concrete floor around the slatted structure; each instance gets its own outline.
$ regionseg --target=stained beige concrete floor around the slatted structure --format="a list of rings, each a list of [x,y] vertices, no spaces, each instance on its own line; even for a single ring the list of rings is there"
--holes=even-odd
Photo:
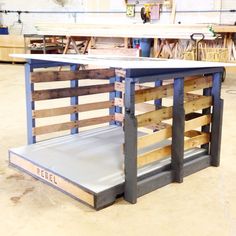
[[[0,64],[0,235],[236,235],[236,71],[223,85],[221,166],[138,199],[94,211],[8,167],[8,149],[26,144],[24,70]]]

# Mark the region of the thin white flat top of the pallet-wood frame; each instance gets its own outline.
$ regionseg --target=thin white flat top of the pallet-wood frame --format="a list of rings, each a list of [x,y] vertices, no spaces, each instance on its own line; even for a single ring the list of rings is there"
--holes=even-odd
[[[185,69],[185,68],[209,68],[209,67],[235,67],[233,63],[204,62],[189,60],[172,60],[147,57],[127,56],[88,56],[88,55],[62,55],[62,54],[11,54],[12,57],[36,59],[73,64],[95,65],[122,69]]]

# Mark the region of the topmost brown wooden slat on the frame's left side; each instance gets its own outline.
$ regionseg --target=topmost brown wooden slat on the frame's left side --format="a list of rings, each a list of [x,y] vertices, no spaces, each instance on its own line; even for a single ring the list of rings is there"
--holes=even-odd
[[[82,79],[109,79],[115,76],[114,69],[91,69],[79,71],[44,71],[32,72],[31,82],[52,82]]]

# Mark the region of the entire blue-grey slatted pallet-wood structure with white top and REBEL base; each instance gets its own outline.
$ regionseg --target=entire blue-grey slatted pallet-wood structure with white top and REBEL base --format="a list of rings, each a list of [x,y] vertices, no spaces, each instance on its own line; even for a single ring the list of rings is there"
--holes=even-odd
[[[225,64],[14,56],[28,61],[28,145],[9,150],[11,166],[96,210],[121,196],[136,203],[157,188],[219,166]],[[81,64],[101,69],[77,70]],[[71,70],[55,69],[64,65]],[[63,99],[67,105],[61,105]],[[138,111],[140,104],[148,109]],[[88,111],[94,111],[92,117],[83,116]],[[65,115],[67,121],[58,119]],[[56,137],[40,139],[52,133]]]

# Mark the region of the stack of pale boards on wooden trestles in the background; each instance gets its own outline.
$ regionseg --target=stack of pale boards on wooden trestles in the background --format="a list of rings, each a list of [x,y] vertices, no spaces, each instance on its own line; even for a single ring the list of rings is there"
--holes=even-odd
[[[178,40],[190,40],[194,33],[204,34],[207,41],[215,39],[211,25],[207,24],[53,24],[38,23],[35,26],[40,35],[66,35],[72,37],[90,37],[91,46],[96,47],[97,38],[121,39],[125,48],[130,38],[153,39],[153,56],[159,57],[166,48],[167,58],[175,58],[174,51],[180,49]],[[122,42],[123,40],[123,42]]]

